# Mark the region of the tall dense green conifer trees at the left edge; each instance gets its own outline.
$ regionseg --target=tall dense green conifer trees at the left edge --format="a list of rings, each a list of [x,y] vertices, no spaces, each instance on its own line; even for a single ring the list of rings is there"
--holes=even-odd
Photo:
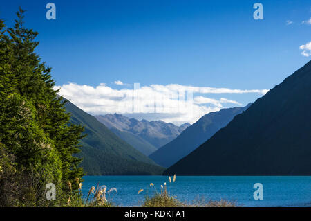
[[[73,154],[79,152],[83,127],[69,123],[63,99],[53,90],[51,69],[35,53],[36,36],[23,26],[21,9],[14,27],[0,21],[0,163],[10,165],[0,182],[9,185],[12,178],[10,185],[19,195],[1,192],[1,206],[38,205],[44,198],[42,186],[50,182],[66,195],[64,184],[82,177],[81,160]],[[28,185],[28,179],[37,182]]]

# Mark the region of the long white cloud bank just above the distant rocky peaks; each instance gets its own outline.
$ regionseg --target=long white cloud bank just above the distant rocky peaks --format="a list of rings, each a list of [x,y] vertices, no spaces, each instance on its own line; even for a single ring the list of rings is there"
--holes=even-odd
[[[133,116],[156,115],[162,121],[181,124],[194,123],[201,116],[216,112],[223,104],[241,105],[227,98],[208,98],[202,94],[265,94],[268,90],[241,90],[214,87],[192,87],[186,85],[149,85],[138,89],[113,89],[104,84],[97,87],[68,83],[57,86],[64,96],[77,107],[90,114],[133,114]],[[200,94],[200,95],[198,95]],[[147,118],[150,120],[150,118]]]

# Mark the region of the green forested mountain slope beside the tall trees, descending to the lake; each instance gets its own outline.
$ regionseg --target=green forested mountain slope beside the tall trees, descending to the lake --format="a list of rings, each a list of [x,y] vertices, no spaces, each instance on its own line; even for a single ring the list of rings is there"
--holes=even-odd
[[[65,105],[71,123],[83,125],[82,167],[87,175],[160,175],[164,168],[117,137],[94,116],[69,101]]]

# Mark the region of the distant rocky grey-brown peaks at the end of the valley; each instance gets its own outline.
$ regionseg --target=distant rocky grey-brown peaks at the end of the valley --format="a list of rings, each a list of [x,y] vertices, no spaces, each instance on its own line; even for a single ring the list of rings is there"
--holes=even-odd
[[[138,121],[121,114],[95,116],[121,139],[132,145],[145,155],[155,152],[162,145],[175,139],[189,123],[177,126],[164,121]]]

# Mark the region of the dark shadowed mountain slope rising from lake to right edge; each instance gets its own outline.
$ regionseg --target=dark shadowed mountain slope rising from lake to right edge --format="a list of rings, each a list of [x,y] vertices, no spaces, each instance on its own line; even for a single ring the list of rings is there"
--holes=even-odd
[[[176,175],[311,175],[311,61],[187,157]]]

